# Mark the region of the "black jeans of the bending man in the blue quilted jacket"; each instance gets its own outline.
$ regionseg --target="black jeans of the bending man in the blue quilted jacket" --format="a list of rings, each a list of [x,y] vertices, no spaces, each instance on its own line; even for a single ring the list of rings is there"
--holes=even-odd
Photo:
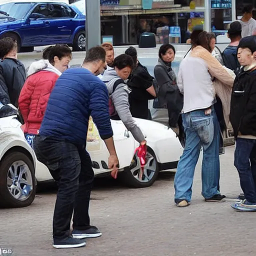
[[[72,213],[73,229],[86,229],[90,224],[88,209],[94,172],[85,146],[39,135],[34,138],[33,148],[58,185],[53,238],[69,235]]]

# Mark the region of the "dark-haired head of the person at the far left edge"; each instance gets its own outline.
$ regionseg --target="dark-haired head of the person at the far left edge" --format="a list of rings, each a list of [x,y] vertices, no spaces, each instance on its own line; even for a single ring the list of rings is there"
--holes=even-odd
[[[18,45],[17,41],[11,37],[3,37],[0,39],[0,58],[4,59],[17,58]]]

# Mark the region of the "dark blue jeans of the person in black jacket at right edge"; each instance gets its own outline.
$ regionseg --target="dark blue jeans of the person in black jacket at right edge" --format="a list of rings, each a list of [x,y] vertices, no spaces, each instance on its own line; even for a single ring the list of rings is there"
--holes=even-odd
[[[256,203],[256,139],[236,139],[234,166],[239,174],[244,197]]]

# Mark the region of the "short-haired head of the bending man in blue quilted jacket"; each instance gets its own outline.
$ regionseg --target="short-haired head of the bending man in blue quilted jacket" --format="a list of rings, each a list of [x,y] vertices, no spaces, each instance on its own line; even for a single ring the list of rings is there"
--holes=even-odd
[[[101,74],[106,68],[106,51],[97,45],[86,52],[82,66],[89,69],[93,74]]]

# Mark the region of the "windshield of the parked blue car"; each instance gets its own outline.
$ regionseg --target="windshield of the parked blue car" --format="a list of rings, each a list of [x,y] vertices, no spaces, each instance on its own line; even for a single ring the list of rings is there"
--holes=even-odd
[[[19,2],[19,3],[5,3],[0,5],[0,10],[6,12],[10,17],[21,19],[29,12],[33,3]]]

